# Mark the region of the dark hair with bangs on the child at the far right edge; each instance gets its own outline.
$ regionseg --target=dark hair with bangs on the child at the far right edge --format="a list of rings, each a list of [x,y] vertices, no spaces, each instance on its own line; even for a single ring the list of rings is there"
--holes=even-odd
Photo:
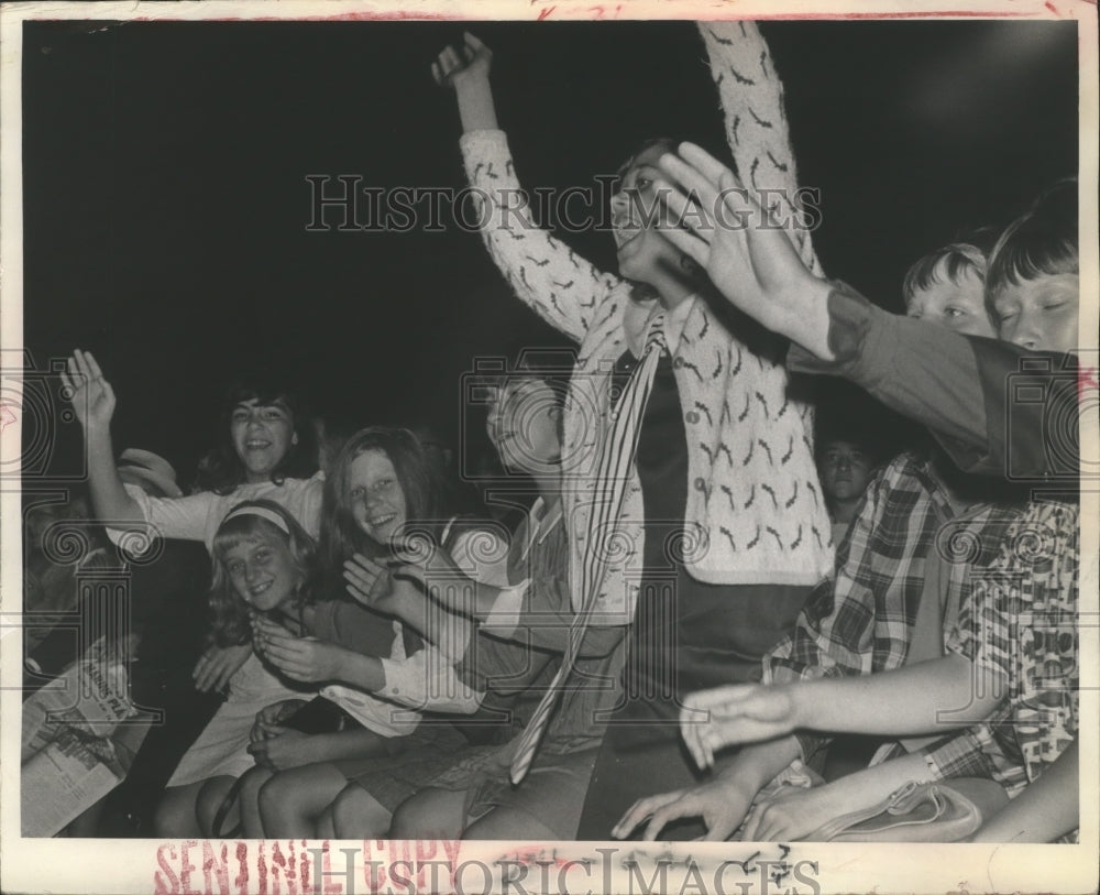
[[[989,259],[986,304],[992,308],[1009,285],[1079,270],[1077,178],[1072,177],[1046,189],[1001,233]]]

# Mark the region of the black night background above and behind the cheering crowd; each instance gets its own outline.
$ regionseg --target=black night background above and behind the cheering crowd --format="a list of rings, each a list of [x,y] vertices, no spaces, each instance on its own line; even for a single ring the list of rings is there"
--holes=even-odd
[[[471,25],[527,187],[591,185],[640,139],[723,141],[686,23]],[[762,26],[800,179],[821,189],[832,276],[900,308],[905,268],[1003,223],[1077,168],[1072,22]],[[464,184],[454,100],[429,64],[455,24],[29,23],[23,56],[24,342],[40,369],[92,350],[116,447],[189,481],[227,380],[288,371],[369,422],[457,437],[475,357],[562,342],[480,239],[308,232],[307,175]],[[339,215],[330,212],[331,223]],[[604,266],[606,233],[569,237]],[[55,465],[75,450],[59,425]],[[66,461],[68,462],[68,461]]]

